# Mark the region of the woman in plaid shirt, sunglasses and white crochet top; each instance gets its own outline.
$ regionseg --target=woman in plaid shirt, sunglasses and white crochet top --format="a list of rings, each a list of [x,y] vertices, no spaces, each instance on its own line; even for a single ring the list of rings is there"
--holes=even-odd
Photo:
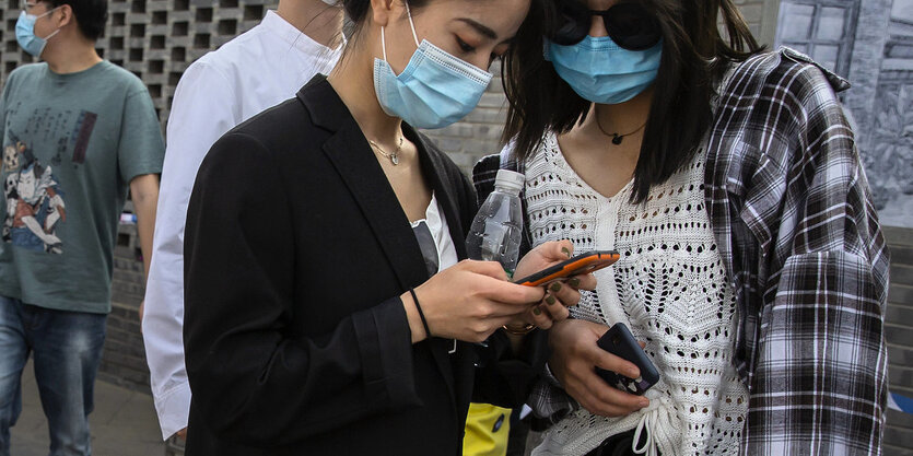
[[[889,259],[836,96],[848,83],[792,49],[763,52],[730,0],[557,1],[554,17],[545,43],[505,57],[523,77],[505,79],[510,142],[477,164],[479,198],[498,168],[525,172],[527,244],[571,238],[622,260],[550,331],[530,405],[555,425],[534,454],[881,454]],[[686,203],[690,224],[675,218]],[[693,265],[672,246],[647,250],[683,225],[697,234],[681,245],[705,230],[693,258],[718,258],[724,273],[698,268],[659,293]],[[710,288],[694,294],[698,280]],[[704,319],[664,320],[709,306]],[[688,326],[707,320],[716,330]],[[636,374],[596,347],[616,321],[660,371],[645,397],[594,373]],[[711,405],[694,407],[703,395]]]

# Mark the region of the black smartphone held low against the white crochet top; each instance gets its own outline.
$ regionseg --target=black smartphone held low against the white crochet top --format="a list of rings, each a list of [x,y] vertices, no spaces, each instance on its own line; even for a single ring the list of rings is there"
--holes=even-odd
[[[659,382],[659,371],[656,370],[656,366],[649,361],[649,356],[646,355],[631,330],[623,323],[612,325],[596,344],[618,358],[634,363],[641,370],[640,377],[628,378],[624,375],[596,367],[596,374],[609,385],[624,393],[642,396],[651,386]]]

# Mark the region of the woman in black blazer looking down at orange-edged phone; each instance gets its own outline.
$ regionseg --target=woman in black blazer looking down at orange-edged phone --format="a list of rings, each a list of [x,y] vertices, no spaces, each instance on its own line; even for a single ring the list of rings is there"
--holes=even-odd
[[[372,83],[375,57],[402,74],[421,54],[410,24],[487,68],[529,0],[343,3],[356,32],[337,69],[226,133],[197,176],[185,239],[188,456],[456,456],[470,397],[522,404],[543,360],[538,331],[520,340],[502,326],[547,328],[567,315],[543,290],[505,281],[498,264],[428,267],[410,222],[436,200],[447,230],[432,257],[443,259],[443,244],[466,258],[476,196],[385,113],[396,107]],[[545,245],[516,273],[569,247]],[[567,285],[554,294],[580,299]],[[487,350],[468,343],[490,336]]]

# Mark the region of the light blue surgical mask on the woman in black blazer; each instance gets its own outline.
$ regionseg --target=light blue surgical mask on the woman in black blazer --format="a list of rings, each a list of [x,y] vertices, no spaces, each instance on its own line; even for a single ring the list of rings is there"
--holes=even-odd
[[[399,75],[387,63],[387,44],[381,27],[384,60],[374,59],[374,92],[384,112],[417,128],[442,128],[466,117],[482,97],[491,73],[434,46],[419,44],[409,4],[409,25],[415,52]]]

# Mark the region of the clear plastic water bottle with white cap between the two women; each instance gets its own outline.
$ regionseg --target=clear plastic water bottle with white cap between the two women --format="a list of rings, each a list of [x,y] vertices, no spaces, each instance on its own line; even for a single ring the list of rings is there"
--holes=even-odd
[[[523,231],[519,200],[523,184],[523,174],[500,169],[494,191],[482,203],[466,238],[470,259],[498,261],[511,277],[517,267]]]

